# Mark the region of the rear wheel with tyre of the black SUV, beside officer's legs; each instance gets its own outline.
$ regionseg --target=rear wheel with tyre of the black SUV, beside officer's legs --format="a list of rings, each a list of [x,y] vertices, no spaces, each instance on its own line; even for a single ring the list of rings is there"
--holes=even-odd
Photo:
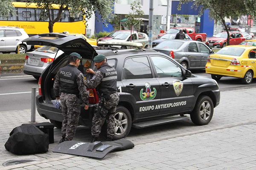
[[[117,106],[115,114],[115,135],[113,140],[125,138],[131,130],[131,113],[123,106]],[[107,136],[106,122],[102,127],[104,136]]]

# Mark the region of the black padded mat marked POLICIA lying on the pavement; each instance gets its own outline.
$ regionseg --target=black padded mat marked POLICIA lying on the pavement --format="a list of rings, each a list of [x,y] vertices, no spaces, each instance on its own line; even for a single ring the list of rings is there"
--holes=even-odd
[[[66,141],[58,144],[52,152],[102,159],[112,151],[126,150],[132,147],[134,144],[126,139],[94,143]]]

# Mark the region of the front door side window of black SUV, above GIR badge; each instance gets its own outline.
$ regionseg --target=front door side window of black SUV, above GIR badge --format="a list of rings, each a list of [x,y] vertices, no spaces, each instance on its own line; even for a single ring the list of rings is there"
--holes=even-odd
[[[151,57],[157,71],[157,77],[182,77],[181,68],[164,57]]]

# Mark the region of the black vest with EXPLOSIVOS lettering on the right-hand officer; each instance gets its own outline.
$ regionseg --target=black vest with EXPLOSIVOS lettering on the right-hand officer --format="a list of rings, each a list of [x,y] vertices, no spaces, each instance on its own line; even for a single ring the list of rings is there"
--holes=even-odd
[[[99,94],[105,95],[116,93],[116,69],[108,65],[108,63],[104,63],[100,66],[98,71],[101,71],[104,74],[102,82],[97,87]]]

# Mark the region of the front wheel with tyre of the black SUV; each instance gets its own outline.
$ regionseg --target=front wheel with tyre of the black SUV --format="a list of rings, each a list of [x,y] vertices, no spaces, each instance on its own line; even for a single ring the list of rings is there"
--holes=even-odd
[[[209,96],[199,96],[190,118],[196,125],[207,125],[213,116],[213,102]]]

